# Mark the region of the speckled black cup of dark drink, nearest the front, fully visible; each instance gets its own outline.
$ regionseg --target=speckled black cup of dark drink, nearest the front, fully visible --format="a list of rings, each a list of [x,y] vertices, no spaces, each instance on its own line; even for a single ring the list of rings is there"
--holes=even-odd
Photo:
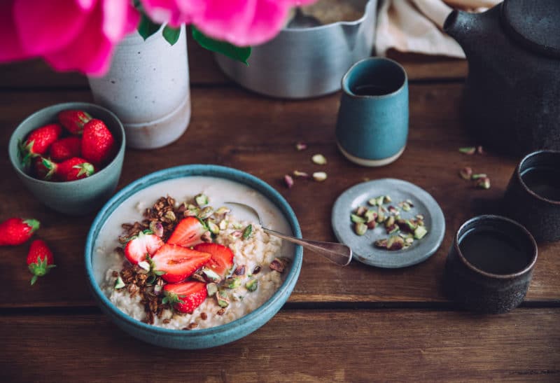
[[[460,307],[499,314],[525,298],[537,260],[537,244],[519,223],[477,216],[457,231],[445,264],[444,288]]]

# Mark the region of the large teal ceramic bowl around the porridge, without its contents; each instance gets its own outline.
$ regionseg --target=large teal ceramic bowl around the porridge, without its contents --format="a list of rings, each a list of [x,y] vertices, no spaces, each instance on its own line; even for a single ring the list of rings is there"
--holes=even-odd
[[[87,235],[85,243],[85,272],[87,275],[87,284],[99,307],[101,307],[102,311],[109,316],[118,327],[125,330],[126,333],[144,342],[155,344],[160,347],[169,347],[173,349],[206,349],[234,342],[241,337],[253,333],[253,331],[272,319],[272,316],[274,316],[276,312],[281,309],[286,300],[288,300],[295,287],[297,277],[299,277],[302,267],[303,250],[301,246],[295,246],[293,263],[291,263],[290,270],[283,284],[281,284],[272,297],[258,307],[258,309],[255,309],[255,311],[235,321],[231,321],[230,323],[212,328],[190,331],[172,330],[169,328],[151,326],[133,319],[131,316],[120,311],[120,309],[113,305],[113,302],[103,293],[94,276],[93,258],[96,254],[94,246],[99,232],[102,230],[109,216],[113,214],[113,211],[118,209],[125,200],[132,197],[135,193],[162,181],[188,176],[211,176],[235,181],[253,188],[278,207],[290,225],[293,235],[301,238],[300,225],[297,223],[297,218],[292,208],[274,188],[264,181],[261,181],[251,174],[230,167],[217,165],[183,165],[163,169],[159,172],[148,174],[141,179],[137,179],[137,181],[130,183],[130,185],[120,190],[104,205],[104,207],[102,207]],[[118,233],[116,233],[116,235],[118,235]]]

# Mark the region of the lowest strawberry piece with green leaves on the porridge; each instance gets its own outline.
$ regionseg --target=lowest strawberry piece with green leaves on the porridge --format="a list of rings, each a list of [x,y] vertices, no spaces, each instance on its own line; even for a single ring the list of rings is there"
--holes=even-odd
[[[208,293],[204,282],[166,284],[163,288],[163,303],[169,303],[176,311],[192,314],[206,299]]]

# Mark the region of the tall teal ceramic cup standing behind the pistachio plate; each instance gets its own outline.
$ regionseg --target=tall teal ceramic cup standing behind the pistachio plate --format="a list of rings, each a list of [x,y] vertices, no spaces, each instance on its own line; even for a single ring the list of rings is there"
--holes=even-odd
[[[337,145],[363,166],[383,166],[400,157],[408,136],[408,79],[398,62],[369,57],[342,78]]]

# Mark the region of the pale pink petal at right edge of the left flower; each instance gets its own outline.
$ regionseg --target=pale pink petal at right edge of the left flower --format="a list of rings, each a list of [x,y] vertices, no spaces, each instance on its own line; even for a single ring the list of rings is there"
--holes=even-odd
[[[102,7],[107,39],[118,42],[137,27],[140,15],[129,0],[102,0]]]

